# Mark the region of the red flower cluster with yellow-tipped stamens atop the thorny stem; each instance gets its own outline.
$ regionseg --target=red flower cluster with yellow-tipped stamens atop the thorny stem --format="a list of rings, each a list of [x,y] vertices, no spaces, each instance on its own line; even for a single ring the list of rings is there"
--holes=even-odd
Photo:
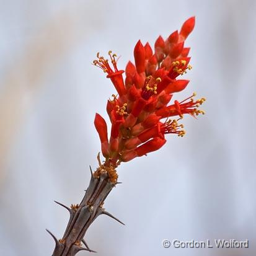
[[[95,66],[103,69],[111,79],[117,95],[107,102],[107,113],[112,123],[110,139],[107,124],[98,113],[95,115],[95,128],[99,133],[105,166],[115,168],[120,162],[156,151],[165,143],[165,135],[175,133],[183,136],[183,125],[178,121],[187,113],[195,117],[205,99],[193,100],[195,94],[181,102],[172,95],[185,89],[188,80],[177,79],[192,67],[188,64],[190,48],[184,41],[192,32],[195,17],[182,25],[180,32],[175,31],[164,40],[159,36],[154,44],[154,53],[149,43],[142,45],[139,40],[134,49],[135,64],[128,62],[125,71],[117,68],[117,55],[108,52],[112,66],[104,57],[97,54]],[[123,73],[125,72],[125,82]],[[178,116],[171,120],[169,117]],[[166,118],[165,121],[161,121]]]

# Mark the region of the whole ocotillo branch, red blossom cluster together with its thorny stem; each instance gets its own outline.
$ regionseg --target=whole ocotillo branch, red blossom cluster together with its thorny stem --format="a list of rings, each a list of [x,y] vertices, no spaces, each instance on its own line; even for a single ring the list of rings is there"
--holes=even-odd
[[[178,121],[185,114],[195,117],[204,113],[198,107],[205,99],[194,100],[195,94],[169,104],[174,94],[185,89],[189,82],[180,76],[192,68],[188,57],[190,48],[184,47],[184,41],[194,25],[195,17],[192,17],[182,25],[180,32],[171,33],[166,40],[158,37],[154,51],[149,43],[143,46],[139,40],[134,49],[135,63],[129,61],[125,71],[118,70],[117,55],[112,51],[108,52],[109,61],[97,54],[95,66],[107,73],[118,93],[107,101],[112,124],[110,136],[104,118],[96,113],[94,120],[105,161],[102,164],[98,155],[99,168],[95,172],[90,169],[89,187],[79,205],[69,208],[56,202],[69,211],[70,218],[61,239],[48,231],[55,239],[53,256],[74,256],[80,250],[94,252],[83,239],[90,224],[102,214],[121,223],[103,207],[112,188],[120,183],[116,167],[160,149],[166,143],[167,134],[183,137],[185,131]]]

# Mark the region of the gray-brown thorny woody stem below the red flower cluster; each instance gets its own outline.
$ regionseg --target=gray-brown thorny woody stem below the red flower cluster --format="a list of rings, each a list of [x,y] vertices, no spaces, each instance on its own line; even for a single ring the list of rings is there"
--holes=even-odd
[[[66,231],[60,240],[56,239],[56,237],[46,229],[55,240],[55,250],[52,256],[74,256],[80,250],[95,252],[89,249],[83,238],[90,224],[92,224],[100,214],[106,214],[121,223],[121,221],[103,208],[104,200],[108,193],[110,193],[112,188],[119,182],[113,182],[109,177],[108,171],[104,169],[101,169],[100,172],[98,169],[94,174],[90,169],[90,173],[89,187],[80,205],[71,205],[71,208],[69,208],[55,201],[58,205],[63,206],[69,211],[70,218]],[[84,244],[85,247],[82,247],[82,244]]]

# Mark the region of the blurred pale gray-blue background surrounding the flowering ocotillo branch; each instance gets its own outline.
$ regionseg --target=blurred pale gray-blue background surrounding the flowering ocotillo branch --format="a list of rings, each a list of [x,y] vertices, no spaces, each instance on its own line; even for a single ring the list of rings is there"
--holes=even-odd
[[[97,51],[133,61],[196,15],[188,37],[193,69],[183,99],[206,97],[184,138],[122,164],[105,201],[121,226],[100,216],[86,240],[99,256],[256,255],[255,1],[1,2],[0,255],[51,255],[68,213],[97,167],[95,112],[115,90],[92,66]],[[164,249],[163,239],[249,239],[249,249]],[[88,255],[80,252],[78,255]]]

